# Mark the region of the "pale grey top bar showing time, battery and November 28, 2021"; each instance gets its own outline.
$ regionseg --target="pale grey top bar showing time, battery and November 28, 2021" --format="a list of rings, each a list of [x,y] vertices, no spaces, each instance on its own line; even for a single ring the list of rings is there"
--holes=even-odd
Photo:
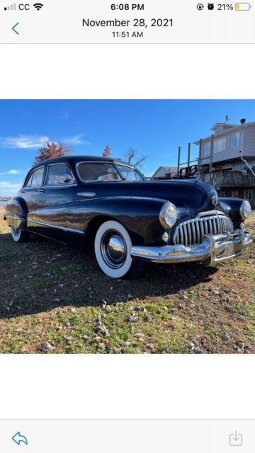
[[[10,0],[11,1],[11,0]],[[75,0],[72,4],[62,0],[44,0],[43,8],[36,11],[33,2],[29,11],[19,11],[16,0],[16,11],[3,11],[0,8],[0,42],[73,42],[73,43],[105,43],[115,42],[255,42],[254,20],[255,8],[250,11],[233,10],[218,11],[215,1],[214,11],[208,11],[208,0],[203,0],[203,11],[198,11],[197,4],[201,0],[145,0],[144,11],[111,10],[111,4],[136,4],[132,0]],[[250,0],[252,2],[252,0]],[[4,2],[4,0],[2,0]],[[228,2],[228,3],[227,3]],[[0,1],[1,3],[1,1]],[[28,2],[29,3],[29,2]],[[226,0],[227,4],[231,2]],[[75,6],[74,6],[75,5]],[[94,21],[123,19],[130,20],[127,26],[82,26],[82,19]],[[145,19],[147,28],[134,26],[135,18]],[[173,19],[174,26],[152,27],[152,18]],[[11,28],[19,23],[16,30]],[[113,38],[114,32],[129,32],[129,38]],[[143,38],[132,38],[132,34],[143,32]]]

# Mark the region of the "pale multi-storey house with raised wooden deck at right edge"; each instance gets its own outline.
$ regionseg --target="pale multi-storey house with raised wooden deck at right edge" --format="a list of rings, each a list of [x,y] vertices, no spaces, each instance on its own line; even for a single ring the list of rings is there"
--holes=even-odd
[[[198,172],[220,196],[246,198],[255,209],[255,122],[217,122],[200,147]],[[200,165],[199,165],[200,164]]]

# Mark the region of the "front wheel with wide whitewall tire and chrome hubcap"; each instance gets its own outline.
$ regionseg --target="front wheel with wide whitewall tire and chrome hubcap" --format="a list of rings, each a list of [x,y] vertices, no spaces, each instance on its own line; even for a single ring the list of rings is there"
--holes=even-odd
[[[131,258],[132,241],[123,225],[109,220],[99,226],[95,238],[96,260],[101,270],[112,278],[134,278],[142,263]]]

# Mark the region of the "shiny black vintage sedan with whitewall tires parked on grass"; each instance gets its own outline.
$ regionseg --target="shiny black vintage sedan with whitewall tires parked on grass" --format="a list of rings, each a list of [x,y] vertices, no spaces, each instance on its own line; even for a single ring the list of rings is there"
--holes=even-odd
[[[121,278],[137,276],[142,261],[210,265],[239,256],[252,241],[250,210],[196,178],[148,181],[120,161],[69,156],[34,166],[4,219],[16,242],[33,233],[94,245],[101,270]]]

